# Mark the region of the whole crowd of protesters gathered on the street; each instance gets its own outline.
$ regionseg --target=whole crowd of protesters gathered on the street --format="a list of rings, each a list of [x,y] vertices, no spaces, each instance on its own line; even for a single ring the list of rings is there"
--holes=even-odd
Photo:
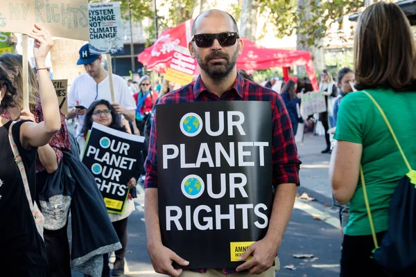
[[[381,15],[383,20],[394,24],[385,24]],[[401,31],[397,32],[397,28]],[[206,35],[216,33],[227,33],[227,39]],[[104,238],[100,242],[92,240],[88,247],[91,251],[87,253],[85,249],[76,249],[76,253],[83,253],[80,258],[91,258],[90,263],[86,262],[89,258],[80,262],[85,276],[124,274],[128,217],[135,211],[133,199],[137,197],[135,188],[140,181],[144,181],[146,188],[148,253],[155,271],[185,277],[238,273],[275,276],[279,270],[277,251],[300,186],[301,162],[295,135],[298,124],[313,115],[300,114],[302,93],[297,92],[294,80],[288,80],[276,93],[271,88],[277,78],[268,80],[263,87],[250,74],[237,71],[236,58],[243,49],[243,40],[235,34],[238,27],[234,17],[220,10],[203,12],[193,21],[193,39],[189,43],[191,56],[201,69],[195,81],[181,87],[159,78],[152,82],[148,75],[138,81],[126,81],[113,74],[114,100],[103,56],[90,53],[89,45],[85,44],[79,50],[77,64],[83,65],[87,73],[73,80],[67,116],[60,112],[45,65],[46,55],[53,46],[48,30],[35,24],[29,35],[35,39],[35,71],[30,64],[23,64],[21,55],[0,55],[0,215],[8,222],[0,231],[0,265],[12,267],[15,276],[71,276],[69,206],[85,195],[76,195],[73,187],[65,183],[69,191],[64,191],[56,202],[64,207],[59,224],[49,215],[49,202],[55,201],[49,195],[56,189],[51,188],[51,180],[55,180],[62,167],[71,164],[71,175],[86,175],[75,178],[87,180],[76,181],[75,186],[83,187],[85,190],[81,191],[88,191],[86,194],[95,199],[89,201],[94,205],[88,213],[94,213],[96,219],[90,219],[93,226],[88,230]],[[358,19],[354,52],[354,70],[340,69],[335,81],[324,70],[319,84],[326,107],[318,116],[326,145],[322,154],[331,153],[329,178],[343,228],[340,275],[414,276],[416,264],[392,269],[371,258],[377,242],[383,244],[385,238],[391,238],[389,208],[399,181],[415,184],[413,175],[408,175],[408,179],[404,176],[416,163],[416,128],[412,124],[416,110],[416,48],[408,19],[400,8],[384,2],[367,8]],[[24,109],[23,100],[24,66],[28,66],[29,73],[28,109]],[[266,236],[248,247],[241,260],[252,258],[234,269],[198,272],[175,269],[173,263],[187,266],[189,262],[164,246],[159,229],[156,107],[178,102],[248,99],[270,102],[272,108],[273,184],[269,185],[275,195]],[[75,136],[67,129],[66,121],[71,118],[78,120]],[[102,199],[97,198],[101,195],[94,177],[88,170],[83,171],[80,163],[93,123],[145,136],[137,168],[132,170],[126,184],[130,188],[126,208],[120,214],[107,213]],[[91,217],[87,212],[71,213],[79,218]],[[79,233],[91,235],[92,231]],[[112,251],[115,261],[110,272]],[[363,275],[368,272],[371,275]]]

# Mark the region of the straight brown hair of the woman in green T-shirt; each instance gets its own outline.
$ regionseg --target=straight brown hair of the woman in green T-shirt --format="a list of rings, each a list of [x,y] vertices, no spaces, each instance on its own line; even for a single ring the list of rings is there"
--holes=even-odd
[[[406,15],[395,3],[374,3],[358,19],[354,73],[357,89],[414,89],[415,42]]]

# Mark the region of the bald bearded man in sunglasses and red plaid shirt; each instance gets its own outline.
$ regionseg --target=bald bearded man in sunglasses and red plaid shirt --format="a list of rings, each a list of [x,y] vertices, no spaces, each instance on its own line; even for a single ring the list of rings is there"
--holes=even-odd
[[[199,15],[192,26],[189,51],[201,69],[195,82],[160,98],[158,105],[179,102],[261,100],[269,101],[272,108],[272,168],[275,200],[270,215],[268,233],[263,240],[252,244],[241,260],[250,260],[236,269],[201,269],[198,272],[174,269],[172,262],[187,266],[189,262],[164,247],[159,229],[157,199],[156,116],[150,134],[146,159],[145,220],[148,252],[155,271],[170,276],[198,277],[224,276],[241,272],[240,276],[261,274],[275,276],[272,267],[281,244],[286,225],[291,217],[297,186],[300,161],[293,137],[291,120],[278,93],[245,80],[237,73],[237,57],[243,51],[243,41],[234,18],[220,10],[209,10]],[[261,124],[261,123],[259,123]],[[258,184],[264,186],[264,184]],[[202,274],[202,275],[201,275]]]

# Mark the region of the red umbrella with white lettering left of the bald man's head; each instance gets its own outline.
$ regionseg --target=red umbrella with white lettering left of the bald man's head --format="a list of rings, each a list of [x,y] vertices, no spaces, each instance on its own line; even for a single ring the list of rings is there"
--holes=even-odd
[[[144,49],[139,54],[137,60],[146,66],[146,69],[153,69],[157,73],[164,73],[166,64],[171,62],[175,46],[188,48],[188,42],[191,40],[191,26],[193,19],[165,30],[156,42]]]

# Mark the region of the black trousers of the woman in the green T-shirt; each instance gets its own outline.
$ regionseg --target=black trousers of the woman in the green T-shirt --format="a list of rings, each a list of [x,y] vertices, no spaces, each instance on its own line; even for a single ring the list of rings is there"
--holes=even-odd
[[[385,235],[376,233],[377,242]],[[376,260],[370,258],[374,242],[372,235],[344,235],[343,252],[341,255],[341,277],[410,277],[416,276],[416,268],[401,272],[386,271]]]

